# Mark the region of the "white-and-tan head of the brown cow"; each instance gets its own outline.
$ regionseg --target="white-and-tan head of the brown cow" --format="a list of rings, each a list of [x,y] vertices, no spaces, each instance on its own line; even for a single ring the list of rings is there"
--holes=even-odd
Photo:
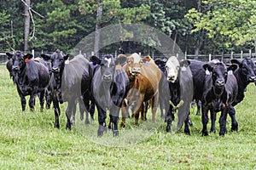
[[[141,69],[143,65],[148,65],[148,62],[151,60],[150,56],[145,56],[141,58],[141,56],[137,53],[131,54],[127,58],[127,64],[129,67],[129,71],[131,75],[136,76],[141,73]]]

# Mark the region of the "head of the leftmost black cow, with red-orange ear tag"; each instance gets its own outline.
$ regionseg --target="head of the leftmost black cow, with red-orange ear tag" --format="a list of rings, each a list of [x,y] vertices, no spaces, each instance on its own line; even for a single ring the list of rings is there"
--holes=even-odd
[[[32,59],[32,54],[23,54],[20,51],[12,53],[6,53],[8,55],[8,59],[13,60],[12,71],[20,71],[23,70],[26,63],[29,62],[29,59]]]

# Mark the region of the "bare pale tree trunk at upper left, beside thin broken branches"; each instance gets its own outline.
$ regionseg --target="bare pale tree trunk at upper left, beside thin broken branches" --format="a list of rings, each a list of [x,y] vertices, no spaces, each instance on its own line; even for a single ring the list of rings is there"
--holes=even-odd
[[[30,27],[30,14],[29,14],[29,7],[30,7],[30,0],[25,1],[25,26],[24,26],[24,52],[26,52],[28,45],[27,40],[29,36],[29,27]]]

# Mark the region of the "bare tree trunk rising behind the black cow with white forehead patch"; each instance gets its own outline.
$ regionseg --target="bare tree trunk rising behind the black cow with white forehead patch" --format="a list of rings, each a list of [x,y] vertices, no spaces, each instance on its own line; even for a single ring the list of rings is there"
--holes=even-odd
[[[94,54],[99,55],[99,44],[101,40],[101,21],[102,21],[102,0],[97,0],[97,18],[94,38]]]

